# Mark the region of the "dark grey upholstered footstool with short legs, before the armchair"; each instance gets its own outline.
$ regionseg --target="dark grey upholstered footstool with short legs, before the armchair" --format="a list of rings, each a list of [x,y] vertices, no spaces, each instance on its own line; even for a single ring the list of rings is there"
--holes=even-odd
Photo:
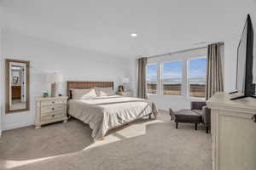
[[[172,109],[170,109],[170,116],[171,120],[176,122],[176,128],[179,122],[195,123],[195,130],[197,130],[197,124],[201,123],[201,115],[198,115],[189,109],[183,109],[180,111],[172,111]]]

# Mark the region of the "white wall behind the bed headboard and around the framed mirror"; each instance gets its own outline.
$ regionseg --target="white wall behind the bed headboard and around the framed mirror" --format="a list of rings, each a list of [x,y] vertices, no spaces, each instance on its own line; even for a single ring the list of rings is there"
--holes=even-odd
[[[45,83],[45,72],[60,72],[65,81],[113,81],[120,85],[121,77],[130,76],[130,60],[68,47],[34,37],[27,37],[3,29],[3,58],[1,59],[1,88],[4,87],[4,59],[24,59],[31,62],[30,72],[30,111],[4,114],[3,130],[32,125],[35,116],[35,97],[49,90]],[[61,84],[61,93],[66,94],[66,83]],[[4,88],[1,94],[5,94]],[[1,95],[3,96],[3,95]],[[1,101],[4,106],[4,101]]]

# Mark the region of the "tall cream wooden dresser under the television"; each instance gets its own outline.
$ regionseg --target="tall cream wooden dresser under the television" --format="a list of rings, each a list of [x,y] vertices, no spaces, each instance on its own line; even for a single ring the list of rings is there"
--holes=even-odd
[[[218,93],[207,100],[212,109],[212,169],[256,169],[256,99],[230,100],[239,94]]]

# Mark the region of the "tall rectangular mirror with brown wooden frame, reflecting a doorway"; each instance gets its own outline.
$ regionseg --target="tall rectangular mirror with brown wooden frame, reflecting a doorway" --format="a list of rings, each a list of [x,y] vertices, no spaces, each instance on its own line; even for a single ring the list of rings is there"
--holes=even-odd
[[[6,113],[29,111],[29,61],[5,60]]]

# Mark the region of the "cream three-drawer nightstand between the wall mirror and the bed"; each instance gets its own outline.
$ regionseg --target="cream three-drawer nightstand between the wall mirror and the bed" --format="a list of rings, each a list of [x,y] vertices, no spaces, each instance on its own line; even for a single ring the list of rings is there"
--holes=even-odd
[[[37,98],[36,128],[51,122],[67,122],[67,96]]]

